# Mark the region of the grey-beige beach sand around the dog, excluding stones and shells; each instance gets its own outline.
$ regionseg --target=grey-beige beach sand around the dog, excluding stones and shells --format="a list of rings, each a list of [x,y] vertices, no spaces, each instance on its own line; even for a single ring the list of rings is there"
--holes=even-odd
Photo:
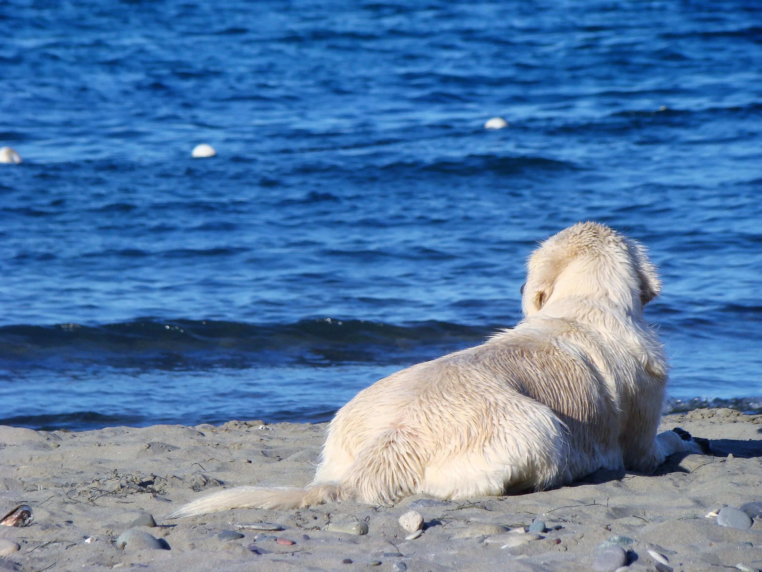
[[[34,521],[24,528],[0,526],[0,544],[5,538],[21,547],[0,558],[0,570],[316,572],[395,570],[399,562],[411,572],[591,570],[598,545],[617,535],[632,538],[628,570],[658,569],[649,548],[664,554],[674,570],[722,570],[738,563],[762,568],[762,519],[744,531],[705,516],[723,504],[762,500],[762,416],[696,410],[664,418],[662,429],[674,426],[711,439],[715,455],[675,455],[655,475],[599,472],[558,490],[419,509],[427,529],[414,540],[405,540],[408,532],[398,519],[421,497],[390,508],[329,503],[166,518],[214,487],[308,484],[325,424],[231,421],[85,432],[0,426],[0,516],[21,503],[34,510]],[[151,513],[158,527],[140,530],[169,549],[116,545],[141,513]],[[558,529],[513,548],[485,542],[479,534],[483,525],[517,527],[533,519]],[[370,532],[325,530],[329,522],[354,521],[367,522]],[[241,531],[245,538],[217,538],[223,530],[255,522],[283,525],[283,532],[265,534],[296,544],[255,542],[259,533],[247,529]],[[373,567],[371,561],[381,564]]]

